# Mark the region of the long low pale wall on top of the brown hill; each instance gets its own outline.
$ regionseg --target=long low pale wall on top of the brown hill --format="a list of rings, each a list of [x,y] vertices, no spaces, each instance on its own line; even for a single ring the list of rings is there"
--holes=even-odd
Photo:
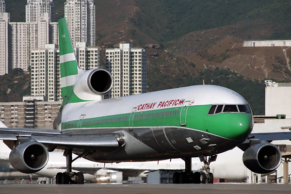
[[[248,40],[243,47],[290,47],[291,40]]]

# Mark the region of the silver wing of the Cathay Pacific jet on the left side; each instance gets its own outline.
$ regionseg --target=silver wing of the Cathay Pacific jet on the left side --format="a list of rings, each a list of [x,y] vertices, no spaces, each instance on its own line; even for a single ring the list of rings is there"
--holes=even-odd
[[[124,144],[122,133],[102,134],[62,134],[54,129],[14,129],[0,128],[0,140],[25,141],[33,139],[49,147],[49,151],[55,148],[78,148],[81,150],[102,150],[110,151],[117,149]],[[15,144],[15,143],[14,143]],[[11,149],[13,146],[7,145]]]

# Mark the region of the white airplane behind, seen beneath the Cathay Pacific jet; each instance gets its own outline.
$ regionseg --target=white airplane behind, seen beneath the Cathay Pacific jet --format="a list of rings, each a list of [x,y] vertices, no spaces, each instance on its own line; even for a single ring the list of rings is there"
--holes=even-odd
[[[1,126],[1,121],[0,121]],[[14,169],[9,162],[9,154],[11,150],[0,141],[0,167]],[[216,178],[226,178],[227,182],[243,182],[246,179],[246,167],[242,163],[242,150],[235,147],[219,155],[216,162],[211,163],[212,171],[215,172]],[[62,157],[61,151],[49,152],[49,161],[47,165],[40,171],[34,173],[35,176],[53,178],[58,171],[66,169],[65,158]],[[76,155],[74,155],[77,157]],[[192,168],[194,171],[200,170],[201,162],[196,158],[192,158]],[[102,169],[102,171],[100,171]],[[104,170],[107,169],[107,170]],[[177,170],[184,169],[184,162],[181,159],[152,161],[152,162],[120,162],[120,163],[99,163],[85,159],[78,159],[72,163],[72,170],[84,173],[84,180],[96,182],[96,178],[100,173],[112,173],[119,171],[123,173],[123,180],[129,177],[146,177],[146,173],[155,170]],[[99,172],[100,171],[100,172]],[[34,177],[33,174],[33,177]],[[22,173],[15,173],[14,178],[23,176]],[[13,177],[10,175],[9,177]]]

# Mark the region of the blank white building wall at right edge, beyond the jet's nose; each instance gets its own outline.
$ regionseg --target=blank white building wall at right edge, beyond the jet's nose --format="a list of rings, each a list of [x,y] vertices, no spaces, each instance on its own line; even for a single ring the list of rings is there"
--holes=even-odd
[[[286,114],[291,118],[291,87],[266,87],[265,115]]]

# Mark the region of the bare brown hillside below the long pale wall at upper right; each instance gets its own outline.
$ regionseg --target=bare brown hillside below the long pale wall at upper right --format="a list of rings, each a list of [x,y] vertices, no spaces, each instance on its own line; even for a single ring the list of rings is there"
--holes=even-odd
[[[226,37],[209,49],[198,52],[179,54],[195,67],[203,70],[210,66],[230,69],[250,79],[276,79],[291,78],[287,60],[283,49],[288,47],[242,47],[242,41]],[[291,50],[287,49],[290,61]]]

